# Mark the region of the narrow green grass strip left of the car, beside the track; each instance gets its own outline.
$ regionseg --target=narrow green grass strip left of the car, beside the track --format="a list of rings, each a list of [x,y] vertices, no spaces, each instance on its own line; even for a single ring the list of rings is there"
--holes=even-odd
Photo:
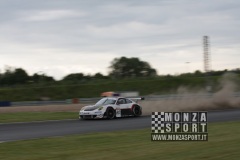
[[[19,112],[1,113],[0,123],[77,119],[78,112]]]

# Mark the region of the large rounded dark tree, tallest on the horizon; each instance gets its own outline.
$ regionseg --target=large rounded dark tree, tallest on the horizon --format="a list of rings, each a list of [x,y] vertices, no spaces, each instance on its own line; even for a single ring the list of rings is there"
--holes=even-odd
[[[140,61],[138,58],[115,58],[111,62],[110,76],[115,78],[125,77],[152,77],[157,72],[151,68],[148,62]]]

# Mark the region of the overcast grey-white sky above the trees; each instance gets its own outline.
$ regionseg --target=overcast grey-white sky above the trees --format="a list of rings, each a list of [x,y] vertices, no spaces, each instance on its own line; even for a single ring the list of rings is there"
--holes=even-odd
[[[240,68],[240,1],[0,0],[1,72],[107,74],[121,56],[160,75],[203,71],[204,35],[213,70]]]

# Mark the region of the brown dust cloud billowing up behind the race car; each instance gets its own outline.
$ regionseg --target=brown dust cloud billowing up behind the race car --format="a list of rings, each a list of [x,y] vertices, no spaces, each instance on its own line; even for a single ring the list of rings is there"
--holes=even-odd
[[[232,73],[223,75],[219,82],[218,91],[208,93],[205,89],[189,91],[187,87],[179,87],[176,95],[147,99],[140,102],[143,107],[143,115],[150,115],[152,112],[167,111],[203,111],[240,108],[240,97],[236,91],[239,89],[236,81],[237,76]],[[238,92],[238,95],[240,93]]]

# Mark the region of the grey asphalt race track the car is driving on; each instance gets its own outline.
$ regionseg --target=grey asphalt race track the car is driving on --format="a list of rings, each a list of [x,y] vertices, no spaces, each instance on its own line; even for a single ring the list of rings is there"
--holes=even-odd
[[[76,117],[78,113],[76,113]],[[240,120],[240,109],[210,111],[208,122]],[[62,120],[0,124],[0,143],[71,134],[131,130],[151,127],[150,116],[114,120]]]

